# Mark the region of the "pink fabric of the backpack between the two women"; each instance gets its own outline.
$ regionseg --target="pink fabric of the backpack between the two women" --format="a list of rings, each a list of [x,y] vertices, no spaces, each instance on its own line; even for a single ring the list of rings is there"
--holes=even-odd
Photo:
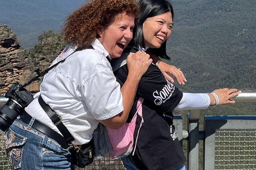
[[[133,134],[135,130],[135,123],[137,119],[137,115],[139,115],[142,119],[140,123],[140,128],[141,125],[143,124],[143,117],[142,117],[142,103],[143,103],[143,98],[139,98],[138,103],[137,103],[137,112],[134,114],[131,123],[125,123],[120,129],[110,129],[107,128],[108,131],[108,136],[111,142],[111,145],[113,147],[113,152],[109,154],[111,158],[116,158],[119,155],[123,154],[124,152],[130,150],[133,146]],[[139,131],[140,131],[139,128]],[[138,131],[138,135],[139,135]],[[138,139],[137,135],[137,139]],[[135,147],[133,149],[133,154],[137,145],[137,139],[135,141]]]

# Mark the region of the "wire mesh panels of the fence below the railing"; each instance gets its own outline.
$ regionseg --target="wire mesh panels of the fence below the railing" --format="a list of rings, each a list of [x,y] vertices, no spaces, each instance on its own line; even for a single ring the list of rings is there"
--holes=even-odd
[[[215,133],[215,169],[256,169],[256,130],[217,130]],[[0,135],[0,170],[12,170],[6,157],[4,135]],[[76,170],[125,170],[120,159],[94,160]]]

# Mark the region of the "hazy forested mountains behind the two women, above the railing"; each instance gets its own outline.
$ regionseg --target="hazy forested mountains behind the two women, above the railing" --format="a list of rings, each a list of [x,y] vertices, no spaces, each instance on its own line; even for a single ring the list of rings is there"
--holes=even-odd
[[[7,24],[27,50],[39,34],[59,32],[65,17],[85,0],[5,0],[0,24]],[[256,1],[170,0],[174,27],[167,40],[169,64],[180,67],[185,91],[256,89]]]

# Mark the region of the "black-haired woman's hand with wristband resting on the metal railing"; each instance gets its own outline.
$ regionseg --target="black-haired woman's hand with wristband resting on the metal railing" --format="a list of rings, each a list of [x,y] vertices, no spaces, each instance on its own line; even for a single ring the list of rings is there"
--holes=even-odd
[[[215,93],[218,98],[219,98],[219,105],[225,105],[225,104],[230,104],[230,103],[235,103],[235,100],[231,99],[237,95],[239,95],[242,91],[237,91],[237,89],[217,89],[214,90],[213,93]],[[210,99],[211,99],[211,106],[216,105],[216,100],[212,94],[209,94]]]

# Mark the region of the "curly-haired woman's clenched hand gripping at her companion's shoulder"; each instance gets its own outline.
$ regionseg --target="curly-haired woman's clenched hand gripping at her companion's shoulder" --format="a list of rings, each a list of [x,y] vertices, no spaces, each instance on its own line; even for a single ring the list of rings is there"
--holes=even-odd
[[[127,67],[129,75],[138,77],[139,79],[148,70],[149,65],[152,63],[152,59],[145,52],[138,51],[137,53],[131,53],[127,56]]]

